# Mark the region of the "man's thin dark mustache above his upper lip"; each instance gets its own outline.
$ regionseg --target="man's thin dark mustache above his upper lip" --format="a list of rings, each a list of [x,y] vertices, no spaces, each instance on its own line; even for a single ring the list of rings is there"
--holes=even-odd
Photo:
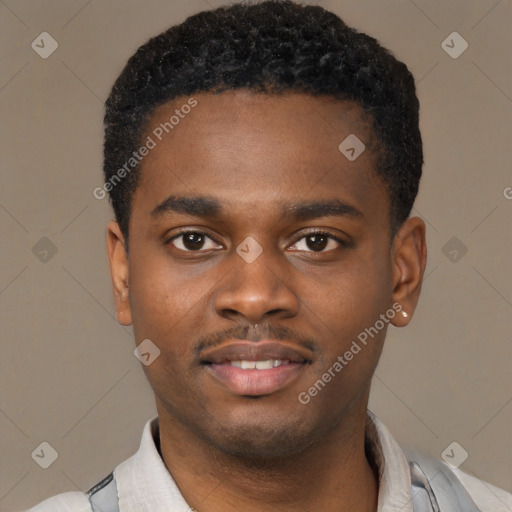
[[[249,340],[254,342],[261,340],[287,340],[302,347],[306,347],[312,352],[315,352],[315,347],[318,346],[317,342],[312,338],[304,337],[288,327],[277,326],[269,322],[264,322],[254,325],[238,325],[216,333],[201,336],[193,348],[194,355],[196,358],[199,358],[199,354],[203,350],[216,347],[231,339]]]

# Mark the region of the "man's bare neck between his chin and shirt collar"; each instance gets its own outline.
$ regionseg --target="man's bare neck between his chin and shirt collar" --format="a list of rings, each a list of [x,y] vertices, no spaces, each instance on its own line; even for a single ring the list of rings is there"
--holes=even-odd
[[[270,461],[221,453],[157,408],[162,458],[197,512],[377,510],[377,477],[365,453],[366,406],[352,409],[304,452]]]

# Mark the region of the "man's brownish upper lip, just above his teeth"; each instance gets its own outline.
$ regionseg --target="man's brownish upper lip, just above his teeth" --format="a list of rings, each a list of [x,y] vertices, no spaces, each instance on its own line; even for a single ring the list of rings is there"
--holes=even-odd
[[[202,350],[201,363],[225,363],[228,361],[287,360],[293,363],[311,361],[311,350],[288,341],[228,341],[219,346]]]

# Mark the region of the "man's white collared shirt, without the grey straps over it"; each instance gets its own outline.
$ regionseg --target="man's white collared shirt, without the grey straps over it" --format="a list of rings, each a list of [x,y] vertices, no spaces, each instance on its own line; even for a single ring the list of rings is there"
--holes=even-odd
[[[386,426],[369,414],[375,429],[367,432],[377,456],[379,499],[377,512],[413,512],[407,459]],[[155,445],[158,417],[149,420],[137,453],[119,464],[117,481],[120,512],[191,512]],[[512,494],[453,470],[482,512],[512,512]],[[84,492],[49,498],[27,512],[91,512]]]

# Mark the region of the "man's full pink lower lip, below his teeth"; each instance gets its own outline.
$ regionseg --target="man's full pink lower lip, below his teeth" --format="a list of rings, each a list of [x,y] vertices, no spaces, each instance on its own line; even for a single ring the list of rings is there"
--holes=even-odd
[[[209,364],[206,370],[237,395],[270,395],[282,389],[304,369],[303,363],[289,363],[269,370],[242,370],[231,364]]]

